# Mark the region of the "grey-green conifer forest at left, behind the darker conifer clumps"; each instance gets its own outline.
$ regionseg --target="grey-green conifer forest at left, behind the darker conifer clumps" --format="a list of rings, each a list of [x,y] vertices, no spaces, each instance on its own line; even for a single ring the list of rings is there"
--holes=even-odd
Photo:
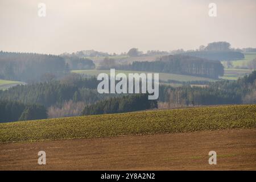
[[[61,105],[64,101],[85,101],[86,103],[101,100],[106,95],[98,94],[97,79],[64,77],[62,80],[39,82],[28,85],[17,85],[8,90],[0,90],[0,100],[20,101],[24,104],[41,104],[45,107]]]

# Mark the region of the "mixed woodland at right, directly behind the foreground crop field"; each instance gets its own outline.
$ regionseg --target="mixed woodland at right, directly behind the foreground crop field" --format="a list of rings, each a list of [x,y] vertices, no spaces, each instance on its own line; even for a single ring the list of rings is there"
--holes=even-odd
[[[169,107],[221,105],[221,104],[255,104],[256,103],[256,71],[237,81],[221,80],[209,82],[203,87],[159,86],[159,101],[168,103]]]

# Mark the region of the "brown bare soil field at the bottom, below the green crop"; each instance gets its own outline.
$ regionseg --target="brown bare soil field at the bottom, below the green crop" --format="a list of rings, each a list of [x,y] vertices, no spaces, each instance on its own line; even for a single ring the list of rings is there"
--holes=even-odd
[[[217,165],[208,164],[211,150]],[[122,169],[256,170],[256,129],[0,144],[0,170]]]

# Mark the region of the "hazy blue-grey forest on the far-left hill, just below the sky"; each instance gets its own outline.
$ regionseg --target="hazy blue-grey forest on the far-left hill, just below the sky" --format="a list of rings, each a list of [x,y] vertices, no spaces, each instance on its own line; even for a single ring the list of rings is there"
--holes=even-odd
[[[61,76],[65,61],[54,55],[37,53],[0,52],[0,75],[5,80],[38,81],[44,73]]]

